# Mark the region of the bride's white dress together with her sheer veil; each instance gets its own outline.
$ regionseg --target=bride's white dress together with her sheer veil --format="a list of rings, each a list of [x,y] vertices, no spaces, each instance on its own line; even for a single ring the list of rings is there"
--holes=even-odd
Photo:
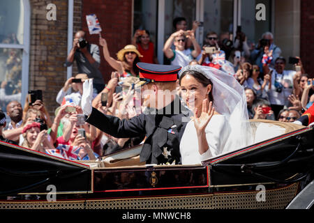
[[[200,72],[211,80],[214,115],[205,129],[209,150],[200,155],[197,134],[193,121],[190,121],[180,142],[182,164],[200,164],[203,160],[253,144],[252,128],[248,121],[246,94],[237,79],[216,68],[207,66],[186,66],[180,70]],[[193,109],[192,109],[193,110]]]

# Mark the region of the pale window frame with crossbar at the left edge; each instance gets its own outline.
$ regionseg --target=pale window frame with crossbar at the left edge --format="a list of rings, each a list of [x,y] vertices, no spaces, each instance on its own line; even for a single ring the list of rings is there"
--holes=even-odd
[[[0,43],[0,48],[22,49],[22,95],[21,104],[24,107],[25,98],[29,91],[29,37],[31,26],[31,6],[29,0],[23,0],[24,6],[24,36],[23,44]]]

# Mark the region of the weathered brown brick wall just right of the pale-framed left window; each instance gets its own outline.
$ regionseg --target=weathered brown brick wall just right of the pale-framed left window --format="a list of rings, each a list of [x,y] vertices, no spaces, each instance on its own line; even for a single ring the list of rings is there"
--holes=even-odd
[[[57,6],[56,21],[46,19],[49,3],[52,1],[30,1],[29,90],[43,90],[45,107],[54,116],[54,109],[59,107],[56,102],[57,93],[66,81],[66,67],[63,63],[66,61],[68,44],[68,1],[53,1]],[[81,29],[81,8],[82,1],[75,0],[73,31]]]

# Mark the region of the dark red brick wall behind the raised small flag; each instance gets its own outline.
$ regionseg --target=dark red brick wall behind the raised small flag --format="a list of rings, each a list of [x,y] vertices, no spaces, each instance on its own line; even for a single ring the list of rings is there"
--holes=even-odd
[[[132,0],[83,0],[82,29],[86,31],[90,43],[99,45],[99,36],[89,35],[85,19],[86,15],[96,14],[103,30],[101,35],[107,40],[110,55],[117,59],[117,52],[131,41],[132,13]],[[107,82],[113,69],[103,58],[102,47],[100,54],[100,72]]]

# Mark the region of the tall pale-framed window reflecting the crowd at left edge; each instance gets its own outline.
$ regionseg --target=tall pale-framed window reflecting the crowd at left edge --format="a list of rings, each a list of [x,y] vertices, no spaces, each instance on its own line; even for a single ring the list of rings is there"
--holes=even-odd
[[[24,105],[29,70],[29,1],[2,0],[0,8],[0,106]]]

